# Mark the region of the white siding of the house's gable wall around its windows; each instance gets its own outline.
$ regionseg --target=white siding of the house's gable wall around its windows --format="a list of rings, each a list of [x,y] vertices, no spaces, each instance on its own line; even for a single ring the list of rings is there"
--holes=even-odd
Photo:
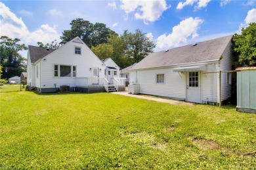
[[[75,54],[75,46],[81,47],[81,54]],[[54,64],[76,66],[76,77],[92,77],[90,68],[98,68],[99,77],[104,77],[104,64],[84,44],[69,42],[41,60],[41,87],[53,88],[60,85],[75,87],[75,77],[54,77]]]

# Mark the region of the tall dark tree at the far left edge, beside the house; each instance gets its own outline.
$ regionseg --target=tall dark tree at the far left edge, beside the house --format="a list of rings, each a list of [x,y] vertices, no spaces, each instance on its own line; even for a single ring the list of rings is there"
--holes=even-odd
[[[7,36],[0,37],[0,63],[4,72],[2,78],[9,78],[20,75],[26,71],[26,58],[23,58],[18,51],[26,50],[25,44],[19,44],[20,39],[11,39]]]

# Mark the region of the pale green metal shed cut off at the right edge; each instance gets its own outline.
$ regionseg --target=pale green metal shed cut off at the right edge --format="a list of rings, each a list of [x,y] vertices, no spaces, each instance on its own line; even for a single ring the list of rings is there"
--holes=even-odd
[[[236,68],[239,112],[256,114],[256,67]]]

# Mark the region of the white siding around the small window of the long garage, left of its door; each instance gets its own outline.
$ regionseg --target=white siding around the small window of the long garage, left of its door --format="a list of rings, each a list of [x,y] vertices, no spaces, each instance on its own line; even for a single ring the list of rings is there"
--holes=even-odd
[[[164,74],[164,83],[156,83],[156,74]],[[142,94],[186,98],[186,74],[173,72],[173,68],[140,70],[137,73],[133,70],[130,71],[130,79],[140,85]]]

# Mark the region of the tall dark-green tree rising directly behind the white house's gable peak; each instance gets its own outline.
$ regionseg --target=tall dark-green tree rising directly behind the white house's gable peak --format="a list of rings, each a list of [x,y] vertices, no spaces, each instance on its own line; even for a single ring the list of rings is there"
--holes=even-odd
[[[93,24],[82,18],[72,20],[70,25],[71,30],[64,30],[62,36],[60,36],[60,39],[62,40],[60,42],[61,44],[67,43],[78,36],[89,48],[91,48],[102,43],[107,43],[110,35],[117,34],[113,30],[110,30],[110,28],[107,28],[106,24]]]

